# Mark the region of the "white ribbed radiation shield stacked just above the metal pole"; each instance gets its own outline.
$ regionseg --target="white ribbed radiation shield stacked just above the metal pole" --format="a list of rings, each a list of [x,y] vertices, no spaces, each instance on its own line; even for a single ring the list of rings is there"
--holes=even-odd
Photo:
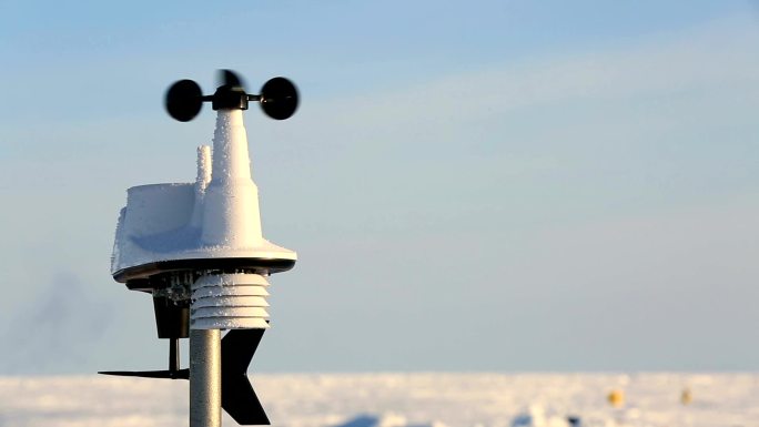
[[[193,329],[267,328],[269,282],[259,274],[210,274],[192,285]]]

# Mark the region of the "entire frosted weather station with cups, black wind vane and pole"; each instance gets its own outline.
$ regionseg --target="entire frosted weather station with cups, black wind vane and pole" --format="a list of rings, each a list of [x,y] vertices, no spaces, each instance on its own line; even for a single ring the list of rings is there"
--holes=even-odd
[[[270,424],[246,370],[269,328],[269,276],[297,260],[263,237],[242,114],[253,101],[270,118],[289,119],[297,90],[279,77],[249,94],[234,72],[220,75],[212,95],[192,80],[165,95],[169,115],[180,122],[194,119],[204,102],[216,111],[213,149],[198,148],[195,182],[129,189],[117,225],[111,274],[152,295],[158,336],[170,343],[169,369],[101,373],[189,379],[191,427],[221,426],[221,408],[241,425]],[[229,331],[223,338],[221,331]],[[190,338],[189,368],[181,368],[181,338]]]

